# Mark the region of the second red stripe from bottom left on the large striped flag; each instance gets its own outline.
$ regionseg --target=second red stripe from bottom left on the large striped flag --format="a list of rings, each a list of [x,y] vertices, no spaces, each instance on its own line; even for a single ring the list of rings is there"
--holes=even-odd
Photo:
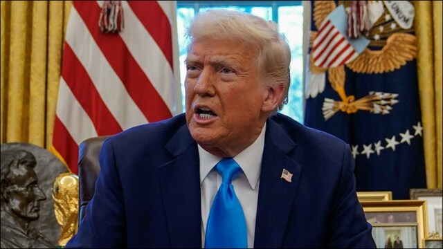
[[[84,111],[88,113],[98,136],[112,135],[122,131],[120,124],[106,107],[82,63],[75,56],[71,46],[66,43],[62,77]]]

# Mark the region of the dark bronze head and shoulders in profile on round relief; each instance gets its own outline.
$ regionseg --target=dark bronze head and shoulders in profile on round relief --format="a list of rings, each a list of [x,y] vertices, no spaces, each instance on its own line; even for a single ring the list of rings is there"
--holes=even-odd
[[[46,195],[38,185],[35,156],[25,150],[1,152],[1,248],[54,248],[29,225],[39,218]]]

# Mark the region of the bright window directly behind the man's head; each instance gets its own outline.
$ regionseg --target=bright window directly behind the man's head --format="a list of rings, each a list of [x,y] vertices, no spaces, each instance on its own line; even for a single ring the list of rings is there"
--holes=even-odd
[[[181,93],[183,95],[183,111],[185,109],[184,79],[186,77],[186,40],[185,27],[198,13],[210,8],[228,8],[248,12],[266,20],[273,20],[280,26],[291,48],[291,87],[289,102],[282,113],[291,116],[298,122],[303,121],[303,90],[302,90],[302,37],[303,7],[301,1],[178,1],[177,33],[179,35]]]

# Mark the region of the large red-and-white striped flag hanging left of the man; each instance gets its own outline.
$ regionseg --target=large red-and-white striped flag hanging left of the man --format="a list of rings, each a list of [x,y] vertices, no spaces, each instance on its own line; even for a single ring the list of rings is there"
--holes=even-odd
[[[83,140],[181,111],[177,3],[121,1],[124,29],[105,34],[103,2],[73,1],[64,42],[51,149],[75,174]]]

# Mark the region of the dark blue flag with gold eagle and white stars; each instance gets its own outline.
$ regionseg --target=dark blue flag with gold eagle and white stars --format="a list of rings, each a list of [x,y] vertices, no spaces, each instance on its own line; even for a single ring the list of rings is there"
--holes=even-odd
[[[350,144],[357,191],[409,199],[410,188],[426,187],[413,3],[311,1],[311,7],[305,124]],[[350,44],[367,39],[368,45],[343,64],[330,63],[333,53],[315,56],[328,22],[342,24],[340,35]]]

